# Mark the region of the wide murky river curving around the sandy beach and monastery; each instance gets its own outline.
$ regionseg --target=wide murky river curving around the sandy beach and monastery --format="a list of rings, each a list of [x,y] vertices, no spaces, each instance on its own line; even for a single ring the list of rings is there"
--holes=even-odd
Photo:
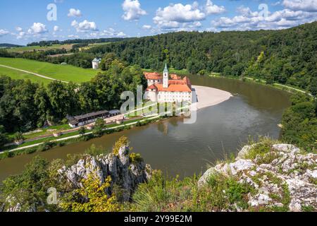
[[[191,76],[194,85],[204,85],[238,96],[201,109],[195,124],[183,124],[172,118],[141,128],[113,133],[87,142],[73,143],[45,153],[21,155],[0,161],[0,180],[21,172],[35,155],[48,160],[66,158],[69,153],[83,152],[93,143],[111,149],[120,136],[128,136],[133,151],[141,153],[153,168],[181,177],[199,174],[207,163],[213,164],[225,155],[236,153],[248,136],[268,135],[278,138],[282,112],[290,105],[289,95],[264,85],[223,78]],[[212,97],[211,97],[212,98]]]

